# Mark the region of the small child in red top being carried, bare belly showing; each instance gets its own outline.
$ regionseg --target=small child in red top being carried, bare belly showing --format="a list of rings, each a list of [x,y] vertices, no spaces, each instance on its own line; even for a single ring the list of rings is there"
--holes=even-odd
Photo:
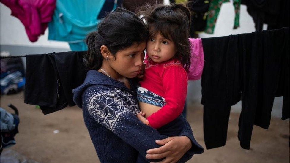
[[[183,126],[178,117],[187,94],[190,10],[183,4],[160,4],[138,14],[144,15],[149,39],[144,78],[137,88],[137,117],[160,134],[176,136]]]

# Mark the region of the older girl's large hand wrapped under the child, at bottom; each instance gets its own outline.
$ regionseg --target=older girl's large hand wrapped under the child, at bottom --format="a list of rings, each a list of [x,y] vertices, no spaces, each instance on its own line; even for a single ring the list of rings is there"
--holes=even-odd
[[[147,159],[163,159],[161,162],[177,162],[187,152],[192,144],[186,136],[168,137],[162,140],[155,141],[158,145],[163,145],[159,148],[149,149],[147,151]]]

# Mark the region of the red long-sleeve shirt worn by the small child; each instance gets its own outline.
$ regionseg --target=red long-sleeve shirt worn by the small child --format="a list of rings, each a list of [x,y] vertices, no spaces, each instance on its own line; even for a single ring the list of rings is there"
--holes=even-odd
[[[146,64],[140,86],[162,96],[166,101],[166,105],[147,117],[153,128],[160,128],[182,113],[187,94],[187,81],[187,73],[177,59],[162,63],[150,60]]]

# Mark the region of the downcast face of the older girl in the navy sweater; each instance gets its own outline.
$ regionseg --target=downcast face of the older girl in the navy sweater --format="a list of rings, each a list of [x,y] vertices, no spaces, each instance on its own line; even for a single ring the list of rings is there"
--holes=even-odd
[[[110,59],[110,66],[120,75],[133,78],[141,72],[146,42],[134,43],[132,46],[119,50],[115,59]],[[112,56],[111,56],[112,57]]]

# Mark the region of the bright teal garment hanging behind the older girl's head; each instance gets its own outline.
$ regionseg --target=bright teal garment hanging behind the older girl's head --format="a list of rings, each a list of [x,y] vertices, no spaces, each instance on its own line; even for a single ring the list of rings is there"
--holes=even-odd
[[[48,23],[48,39],[83,47],[86,35],[97,29],[97,17],[104,3],[105,0],[57,0],[52,21]],[[77,43],[80,45],[75,46]]]

